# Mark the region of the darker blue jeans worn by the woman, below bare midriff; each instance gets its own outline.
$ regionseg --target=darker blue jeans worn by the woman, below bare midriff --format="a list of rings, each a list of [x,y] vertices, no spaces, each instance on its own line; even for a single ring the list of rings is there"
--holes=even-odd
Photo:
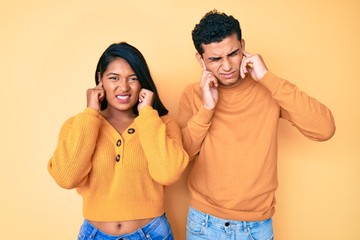
[[[78,236],[78,240],[174,240],[170,224],[165,217],[153,219],[144,227],[135,232],[112,236],[94,227],[88,220],[84,220]]]

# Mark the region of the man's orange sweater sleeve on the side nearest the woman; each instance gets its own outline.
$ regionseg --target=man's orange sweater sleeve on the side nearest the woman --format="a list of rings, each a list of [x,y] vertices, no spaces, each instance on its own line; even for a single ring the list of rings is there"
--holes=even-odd
[[[200,152],[201,145],[211,126],[214,110],[204,107],[192,85],[188,86],[180,98],[178,122],[182,130],[183,143],[190,160]]]

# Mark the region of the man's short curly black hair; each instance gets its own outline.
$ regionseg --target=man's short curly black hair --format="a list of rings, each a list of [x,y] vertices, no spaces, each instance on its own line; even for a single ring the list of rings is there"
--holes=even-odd
[[[196,50],[201,55],[204,53],[202,44],[221,42],[224,38],[236,33],[241,40],[240,23],[233,16],[221,13],[216,9],[208,12],[192,31],[192,39]]]

